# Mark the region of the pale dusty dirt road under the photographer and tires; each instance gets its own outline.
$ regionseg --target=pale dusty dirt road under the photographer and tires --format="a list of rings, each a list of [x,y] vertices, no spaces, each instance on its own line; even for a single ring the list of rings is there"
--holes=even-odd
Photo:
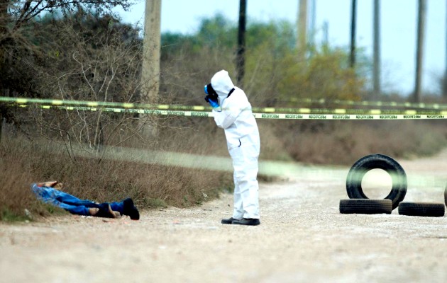
[[[405,201],[443,202],[446,159],[399,161]],[[256,227],[220,224],[231,195],[140,221],[0,224],[0,282],[447,282],[447,217],[340,214],[348,169],[261,183]]]

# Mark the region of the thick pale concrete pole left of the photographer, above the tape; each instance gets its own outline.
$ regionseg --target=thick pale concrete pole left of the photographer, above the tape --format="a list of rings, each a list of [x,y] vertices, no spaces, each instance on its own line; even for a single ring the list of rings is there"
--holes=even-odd
[[[143,103],[155,103],[160,88],[160,13],[161,0],[146,0],[141,69]]]

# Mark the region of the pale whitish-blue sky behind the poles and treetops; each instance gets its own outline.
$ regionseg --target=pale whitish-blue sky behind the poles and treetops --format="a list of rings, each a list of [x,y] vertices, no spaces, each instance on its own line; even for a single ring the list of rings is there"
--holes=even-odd
[[[348,48],[351,38],[351,0],[316,1],[316,41],[321,42],[324,22],[329,23],[331,46]],[[312,0],[308,0],[311,5]],[[247,21],[282,19],[294,23],[299,0],[248,0]],[[382,88],[405,95],[414,89],[416,60],[417,0],[380,1]],[[358,47],[372,57],[373,0],[357,1]],[[202,18],[222,13],[237,23],[237,0],[162,0],[162,32],[194,33]],[[426,37],[424,45],[423,91],[440,93],[441,78],[446,68],[446,0],[427,0]],[[142,24],[145,1],[136,0],[129,12],[120,12],[126,23]],[[310,17],[310,15],[309,15]]]

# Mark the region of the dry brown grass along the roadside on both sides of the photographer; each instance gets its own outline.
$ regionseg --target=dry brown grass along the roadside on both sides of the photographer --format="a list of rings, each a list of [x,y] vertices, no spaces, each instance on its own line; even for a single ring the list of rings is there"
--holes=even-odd
[[[260,160],[351,165],[375,153],[393,158],[428,156],[446,144],[447,129],[442,122],[258,120]],[[56,150],[53,141],[46,141],[52,151],[40,151],[37,141],[38,137],[29,141],[4,131],[0,145],[1,220],[27,219],[25,209],[34,216],[60,212],[38,202],[30,190],[31,183],[45,180],[60,180],[66,192],[97,202],[133,197],[142,209],[200,204],[233,186],[232,172],[107,158],[101,162],[96,158],[73,160],[67,152]],[[228,157],[223,130],[212,119],[172,119],[150,150]]]

